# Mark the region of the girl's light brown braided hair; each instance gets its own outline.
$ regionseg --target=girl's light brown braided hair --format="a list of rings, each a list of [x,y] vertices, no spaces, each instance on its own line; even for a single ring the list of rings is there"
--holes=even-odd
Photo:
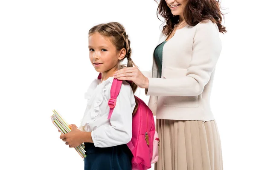
[[[125,68],[125,67],[133,67],[135,65],[131,59],[131,47],[130,47],[131,42],[128,39],[128,34],[126,34],[125,28],[122,26],[122,24],[117,22],[99,24],[97,26],[93,26],[93,28],[89,30],[89,36],[94,33],[99,33],[102,36],[110,37],[111,42],[113,43],[113,45],[115,45],[117,51],[120,51],[122,48],[125,48],[126,54],[125,54],[125,57],[119,62],[119,65],[118,65],[119,69]],[[128,61],[127,65],[121,65],[121,62],[125,58]],[[133,93],[135,93],[138,86],[134,82],[131,82],[129,84],[131,85]],[[133,111],[133,115],[138,109],[138,102],[136,98],[135,98],[135,102],[136,102],[136,105]]]

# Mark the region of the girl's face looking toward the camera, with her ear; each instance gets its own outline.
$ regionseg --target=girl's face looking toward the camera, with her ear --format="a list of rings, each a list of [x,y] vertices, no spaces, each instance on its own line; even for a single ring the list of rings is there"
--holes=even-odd
[[[89,56],[95,70],[101,73],[115,71],[119,60],[125,57],[122,50],[117,51],[111,37],[93,33],[89,36]]]

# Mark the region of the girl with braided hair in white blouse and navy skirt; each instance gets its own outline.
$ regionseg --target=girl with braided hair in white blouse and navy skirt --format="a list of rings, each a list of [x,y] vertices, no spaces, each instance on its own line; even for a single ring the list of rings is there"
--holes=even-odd
[[[134,92],[137,85],[123,82],[117,97],[116,107],[108,119],[110,89],[113,74],[124,59],[127,67],[133,67],[130,40],[125,28],[116,22],[99,24],[89,31],[89,56],[101,79],[95,79],[85,97],[87,108],[79,129],[60,138],[69,147],[84,142],[86,155],[84,170],[131,170],[131,151],[127,147],[132,136],[132,113],[136,109]],[[100,78],[100,77],[99,77]]]

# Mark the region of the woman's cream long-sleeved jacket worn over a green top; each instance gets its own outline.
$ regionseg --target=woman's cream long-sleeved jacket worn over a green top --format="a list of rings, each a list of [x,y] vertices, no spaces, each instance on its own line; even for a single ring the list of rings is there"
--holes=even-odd
[[[166,40],[163,33],[157,45]],[[148,106],[157,119],[213,120],[210,93],[215,65],[221,53],[216,24],[210,20],[185,26],[163,47],[162,77],[153,57]]]

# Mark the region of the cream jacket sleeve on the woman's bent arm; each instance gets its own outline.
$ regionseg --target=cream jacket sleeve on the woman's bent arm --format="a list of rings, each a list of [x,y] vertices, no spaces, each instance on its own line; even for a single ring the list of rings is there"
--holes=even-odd
[[[148,78],[146,95],[197,96],[202,93],[220,56],[221,40],[216,24],[199,23],[196,27],[192,59],[186,76],[171,79]]]

